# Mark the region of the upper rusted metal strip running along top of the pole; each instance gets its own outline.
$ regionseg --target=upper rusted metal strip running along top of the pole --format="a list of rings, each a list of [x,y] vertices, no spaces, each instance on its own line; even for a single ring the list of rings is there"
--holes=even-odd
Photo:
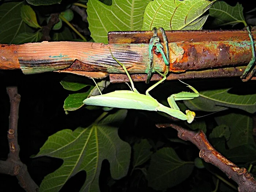
[[[202,42],[202,41],[249,41],[248,32],[245,30],[177,30],[165,31],[168,42]],[[256,30],[252,30],[256,37]],[[110,31],[109,44],[148,44],[153,36],[152,31]],[[161,32],[158,36],[163,41]]]

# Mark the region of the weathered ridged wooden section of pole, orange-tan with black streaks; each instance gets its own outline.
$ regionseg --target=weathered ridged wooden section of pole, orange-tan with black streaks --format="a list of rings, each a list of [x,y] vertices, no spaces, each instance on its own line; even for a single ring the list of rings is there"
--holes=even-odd
[[[69,71],[105,71],[122,73],[122,67],[112,58],[109,48],[120,62],[131,72],[144,72],[148,60],[148,45],[138,44],[108,44],[92,42],[42,42],[20,45],[18,60],[25,74],[56,71],[69,67]],[[144,48],[143,48],[144,47]],[[81,63],[80,63],[81,64]],[[160,64],[159,64],[160,66]]]

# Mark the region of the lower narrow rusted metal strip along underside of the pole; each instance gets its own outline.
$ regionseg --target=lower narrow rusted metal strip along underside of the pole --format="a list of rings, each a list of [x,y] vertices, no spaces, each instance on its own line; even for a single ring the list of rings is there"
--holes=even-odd
[[[246,67],[230,67],[220,69],[207,69],[204,71],[187,71],[179,74],[170,73],[167,76],[167,80],[177,79],[200,79],[200,78],[222,78],[222,77],[235,77],[241,76]],[[145,74],[133,74],[131,78],[134,82],[146,81],[147,75]],[[122,83],[129,82],[127,75],[124,74],[110,74],[110,83]],[[162,76],[154,74],[151,81],[159,81]]]

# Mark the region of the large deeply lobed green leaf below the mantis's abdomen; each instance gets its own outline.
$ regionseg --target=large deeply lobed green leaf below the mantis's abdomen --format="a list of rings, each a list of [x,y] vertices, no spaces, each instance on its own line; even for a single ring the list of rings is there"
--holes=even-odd
[[[80,191],[99,191],[99,173],[104,159],[110,163],[113,179],[124,177],[129,168],[131,147],[117,132],[126,115],[127,110],[122,109],[87,128],[79,127],[74,132],[64,129],[50,136],[35,157],[46,155],[64,162],[44,178],[39,191],[57,192],[82,170],[86,171],[86,181]]]

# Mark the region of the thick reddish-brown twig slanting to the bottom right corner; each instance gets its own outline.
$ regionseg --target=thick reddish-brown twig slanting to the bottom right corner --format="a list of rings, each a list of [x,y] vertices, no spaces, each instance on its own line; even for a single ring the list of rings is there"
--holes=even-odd
[[[245,168],[240,168],[234,163],[223,157],[208,142],[206,135],[202,130],[190,131],[176,124],[157,124],[158,128],[172,127],[178,131],[178,137],[185,141],[190,141],[200,149],[199,157],[207,163],[217,166],[229,178],[238,184],[238,191],[256,191],[256,181],[253,175]]]

